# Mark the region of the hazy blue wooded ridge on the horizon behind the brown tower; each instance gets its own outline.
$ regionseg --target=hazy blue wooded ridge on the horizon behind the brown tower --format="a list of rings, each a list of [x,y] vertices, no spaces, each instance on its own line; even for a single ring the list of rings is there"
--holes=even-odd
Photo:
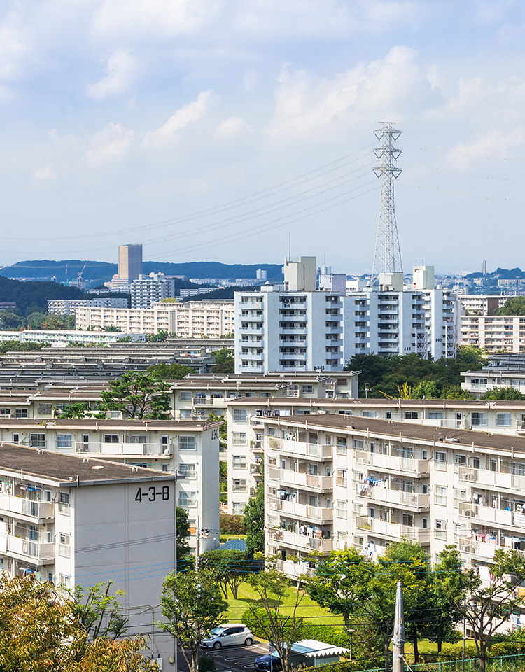
[[[0,269],[0,276],[7,278],[27,278],[31,280],[50,280],[53,276],[58,282],[76,280],[83,269],[85,260],[66,259],[64,261],[33,260],[18,261],[12,266]],[[160,261],[145,261],[144,273],[165,273],[166,275],[185,275],[188,278],[255,278],[255,272],[262,268],[269,280],[282,279],[282,269],[278,264],[221,264],[216,261],[192,261],[172,264]],[[105,261],[88,261],[82,274],[90,283],[101,284],[116,274],[117,265]],[[182,286],[182,285],[181,285]],[[188,287],[192,285],[188,284]]]

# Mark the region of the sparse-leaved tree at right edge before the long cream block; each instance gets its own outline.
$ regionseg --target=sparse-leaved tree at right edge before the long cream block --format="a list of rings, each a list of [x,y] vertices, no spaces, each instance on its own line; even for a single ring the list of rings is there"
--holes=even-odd
[[[525,603],[518,590],[525,581],[525,558],[513,549],[498,548],[486,574],[482,577],[475,570],[465,570],[468,598],[461,609],[473,633],[480,672],[485,672],[491,637]]]

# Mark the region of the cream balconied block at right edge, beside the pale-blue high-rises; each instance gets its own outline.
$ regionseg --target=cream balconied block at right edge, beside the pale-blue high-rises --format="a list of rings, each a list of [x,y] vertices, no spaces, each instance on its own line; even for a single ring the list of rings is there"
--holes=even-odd
[[[461,345],[474,345],[488,353],[525,352],[525,316],[462,315]]]

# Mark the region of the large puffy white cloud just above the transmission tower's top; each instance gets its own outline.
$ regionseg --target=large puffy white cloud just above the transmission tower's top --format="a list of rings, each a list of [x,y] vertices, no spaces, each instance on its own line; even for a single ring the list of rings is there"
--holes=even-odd
[[[306,133],[335,120],[348,121],[356,113],[399,115],[413,108],[421,92],[430,89],[417,56],[411,48],[396,46],[384,59],[317,81],[285,65],[275,92],[272,134]]]

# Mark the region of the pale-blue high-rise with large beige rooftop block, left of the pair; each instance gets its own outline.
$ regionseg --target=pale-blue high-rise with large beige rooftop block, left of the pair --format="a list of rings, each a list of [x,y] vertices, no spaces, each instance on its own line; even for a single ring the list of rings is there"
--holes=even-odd
[[[235,293],[235,372],[342,371],[341,295],[316,290],[315,257],[285,259],[283,274]]]

